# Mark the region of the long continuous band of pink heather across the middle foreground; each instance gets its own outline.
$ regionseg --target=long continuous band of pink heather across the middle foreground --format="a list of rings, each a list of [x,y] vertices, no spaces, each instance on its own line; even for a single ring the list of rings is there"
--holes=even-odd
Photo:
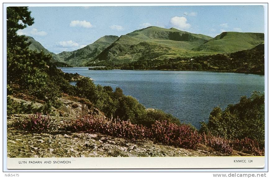
[[[102,133],[114,137],[128,139],[155,140],[158,143],[180,148],[195,149],[201,137],[196,130],[188,125],[176,125],[169,121],[156,121],[150,129],[142,125],[132,124],[130,121],[110,120],[85,116],[64,126],[64,130],[72,132]]]

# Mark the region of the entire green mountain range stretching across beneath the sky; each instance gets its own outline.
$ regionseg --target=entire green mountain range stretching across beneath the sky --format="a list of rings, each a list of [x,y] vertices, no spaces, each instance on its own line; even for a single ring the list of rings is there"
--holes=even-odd
[[[51,53],[55,61],[70,66],[95,66],[130,63],[142,59],[164,60],[180,57],[206,56],[233,53],[254,48],[264,43],[263,33],[222,32],[212,38],[175,28],[156,26],[134,30],[120,37],[105,35],[95,42],[75,51],[54,54],[40,43],[36,50]],[[34,44],[34,43],[33,43]]]

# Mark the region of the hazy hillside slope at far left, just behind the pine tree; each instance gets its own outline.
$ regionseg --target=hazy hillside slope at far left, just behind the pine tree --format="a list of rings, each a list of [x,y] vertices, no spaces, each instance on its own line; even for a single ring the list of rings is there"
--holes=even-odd
[[[31,37],[31,36],[26,36],[26,37],[27,37],[26,42],[31,43],[28,47],[30,50],[32,50],[32,51],[36,50],[38,52],[43,51],[44,53],[51,54],[52,60],[50,62],[52,62],[53,64],[55,64],[58,67],[64,67],[64,66],[69,67],[69,65],[67,65],[66,63],[60,62],[59,57],[55,53],[48,51],[46,48],[43,47],[43,45],[41,43],[37,42],[33,37]]]

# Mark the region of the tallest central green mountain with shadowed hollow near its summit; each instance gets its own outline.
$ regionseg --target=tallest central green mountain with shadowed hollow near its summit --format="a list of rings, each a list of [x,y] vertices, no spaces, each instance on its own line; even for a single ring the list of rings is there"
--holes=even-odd
[[[185,53],[187,50],[196,48],[210,39],[212,37],[192,34],[175,28],[165,29],[151,26],[120,36],[119,39],[95,57],[93,62],[114,58],[119,61],[123,59],[133,61],[138,60],[140,57],[146,57],[146,55],[156,58],[163,55]]]

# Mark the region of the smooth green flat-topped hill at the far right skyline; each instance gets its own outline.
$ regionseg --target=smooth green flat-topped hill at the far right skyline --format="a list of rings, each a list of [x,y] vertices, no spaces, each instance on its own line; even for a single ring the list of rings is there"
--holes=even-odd
[[[263,33],[223,32],[193,50],[231,53],[253,48],[263,42]]]

